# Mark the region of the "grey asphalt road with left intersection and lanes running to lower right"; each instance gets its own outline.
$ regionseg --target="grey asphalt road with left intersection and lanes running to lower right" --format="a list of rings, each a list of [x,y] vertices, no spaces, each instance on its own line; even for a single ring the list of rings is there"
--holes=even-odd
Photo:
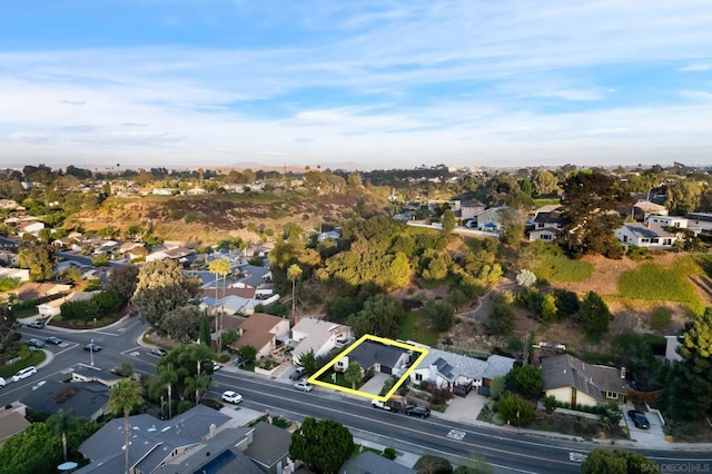
[[[149,349],[136,344],[146,326],[138,318],[128,318],[113,327],[89,332],[61,332],[52,327],[33,329],[23,327],[23,339],[44,339],[56,335],[65,340],[60,346],[47,345],[52,361],[32,377],[18,383],[9,383],[0,389],[0,404],[6,405],[18,398],[42,379],[65,379],[81,365],[109,369],[128,362],[137,373],[155,374],[158,357]],[[82,346],[92,340],[103,348],[93,355]],[[373,408],[369,401],[354,398],[316,387],[310,393],[301,393],[291,384],[267,379],[254,373],[224,368],[214,375],[210,396],[219,398],[228,389],[237,389],[245,401],[243,406],[257,411],[270,411],[287,418],[301,421],[306,416],[335,419],[352,429],[363,440],[384,446],[393,446],[399,452],[433,454],[462,464],[463,458],[477,453],[495,467],[498,473],[576,473],[578,464],[571,462],[571,452],[586,453],[591,443],[572,442],[545,436],[512,433],[496,427],[483,428],[468,424],[445,421],[432,416],[428,419],[411,418]],[[656,462],[709,463],[712,456],[699,452],[641,451]]]

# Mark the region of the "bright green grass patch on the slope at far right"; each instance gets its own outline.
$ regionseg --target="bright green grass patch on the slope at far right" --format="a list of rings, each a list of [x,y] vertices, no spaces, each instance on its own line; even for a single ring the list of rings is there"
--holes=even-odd
[[[688,278],[700,273],[700,267],[690,258],[682,258],[670,267],[643,264],[625,271],[619,278],[619,293],[624,298],[679,302],[693,313],[702,314],[704,305]]]

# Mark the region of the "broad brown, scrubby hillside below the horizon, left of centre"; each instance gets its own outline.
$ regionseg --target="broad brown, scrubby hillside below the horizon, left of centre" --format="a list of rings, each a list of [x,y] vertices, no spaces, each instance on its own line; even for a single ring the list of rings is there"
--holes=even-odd
[[[363,192],[109,198],[96,210],[69,217],[65,226],[96,231],[108,226],[123,230],[135,224],[150,224],[154,234],[165,240],[208,244],[240,237],[256,243],[280,233],[287,223],[304,229],[340,225],[356,216],[359,203],[370,213],[385,205],[385,200]]]

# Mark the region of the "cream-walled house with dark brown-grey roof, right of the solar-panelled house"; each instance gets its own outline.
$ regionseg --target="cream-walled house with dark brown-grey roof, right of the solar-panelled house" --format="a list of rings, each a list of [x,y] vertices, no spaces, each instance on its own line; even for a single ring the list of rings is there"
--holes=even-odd
[[[627,393],[625,369],[586,364],[570,355],[542,358],[543,391],[570,406],[623,402]]]

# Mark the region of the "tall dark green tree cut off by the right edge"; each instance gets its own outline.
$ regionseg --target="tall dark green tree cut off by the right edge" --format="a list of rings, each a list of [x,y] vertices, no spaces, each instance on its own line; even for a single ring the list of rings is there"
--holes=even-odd
[[[688,323],[680,336],[675,363],[665,391],[668,413],[674,419],[701,419],[712,416],[712,307]]]

